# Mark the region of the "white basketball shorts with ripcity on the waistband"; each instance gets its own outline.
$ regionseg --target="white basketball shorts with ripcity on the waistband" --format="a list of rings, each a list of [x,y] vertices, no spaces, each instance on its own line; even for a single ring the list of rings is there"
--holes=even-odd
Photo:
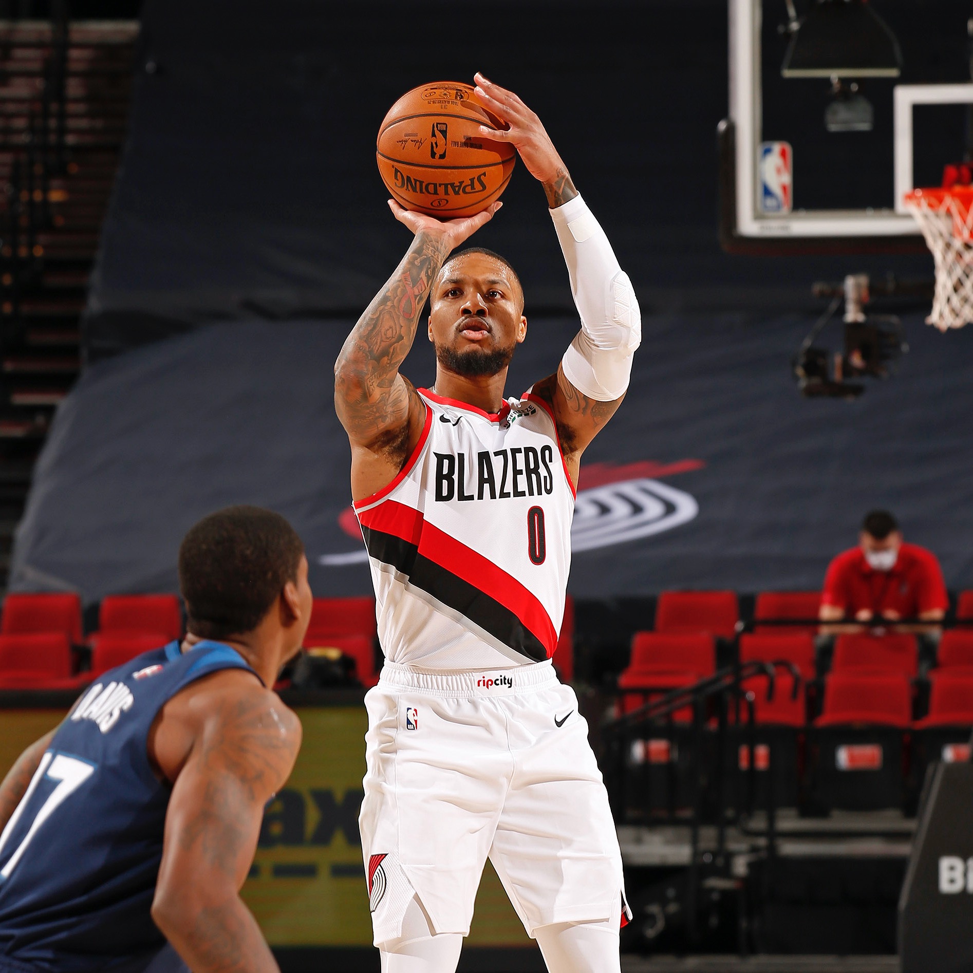
[[[470,930],[489,856],[527,934],[620,918],[622,856],[588,724],[550,662],[417,672],[365,697],[359,826],[375,943],[415,895],[437,933]]]

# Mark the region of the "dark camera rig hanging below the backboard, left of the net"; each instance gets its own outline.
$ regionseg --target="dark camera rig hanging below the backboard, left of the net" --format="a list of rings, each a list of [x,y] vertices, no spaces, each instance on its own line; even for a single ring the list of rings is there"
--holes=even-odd
[[[865,273],[850,273],[842,284],[814,284],[813,294],[831,298],[828,309],[818,318],[801,343],[792,362],[794,378],[807,398],[856,399],[865,391],[857,378],[888,378],[895,361],[909,350],[905,329],[894,314],[866,314],[865,306],[873,293],[902,293],[894,277],[873,285]],[[845,302],[845,348],[832,352],[814,344],[824,327]]]

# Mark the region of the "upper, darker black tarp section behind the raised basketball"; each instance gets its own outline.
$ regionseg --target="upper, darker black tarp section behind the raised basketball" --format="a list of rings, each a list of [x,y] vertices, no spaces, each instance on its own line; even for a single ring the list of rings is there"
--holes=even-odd
[[[89,360],[213,320],[356,316],[408,238],[385,205],[378,125],[406,90],[469,82],[476,70],[543,119],[643,310],[801,306],[811,280],[848,272],[830,258],[740,260],[719,249],[726,0],[504,0],[488,10],[281,0],[269,13],[255,2],[147,0],[129,140],[91,283]],[[818,112],[807,125],[816,135]],[[572,309],[523,163],[477,241],[511,258],[535,314]],[[930,266],[871,258],[850,270]]]

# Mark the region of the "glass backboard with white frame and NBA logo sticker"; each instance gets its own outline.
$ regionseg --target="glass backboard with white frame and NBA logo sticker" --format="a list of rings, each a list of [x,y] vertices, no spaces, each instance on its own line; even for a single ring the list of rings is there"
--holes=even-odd
[[[729,0],[729,12],[724,248],[919,252],[905,194],[973,161],[973,0]]]

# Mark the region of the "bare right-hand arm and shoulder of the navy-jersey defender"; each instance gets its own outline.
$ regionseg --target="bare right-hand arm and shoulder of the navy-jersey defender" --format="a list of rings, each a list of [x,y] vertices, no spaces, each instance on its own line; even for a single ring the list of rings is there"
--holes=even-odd
[[[174,783],[152,918],[194,973],[277,970],[239,890],[300,745],[297,716],[250,673],[215,673],[163,707],[150,757]]]

